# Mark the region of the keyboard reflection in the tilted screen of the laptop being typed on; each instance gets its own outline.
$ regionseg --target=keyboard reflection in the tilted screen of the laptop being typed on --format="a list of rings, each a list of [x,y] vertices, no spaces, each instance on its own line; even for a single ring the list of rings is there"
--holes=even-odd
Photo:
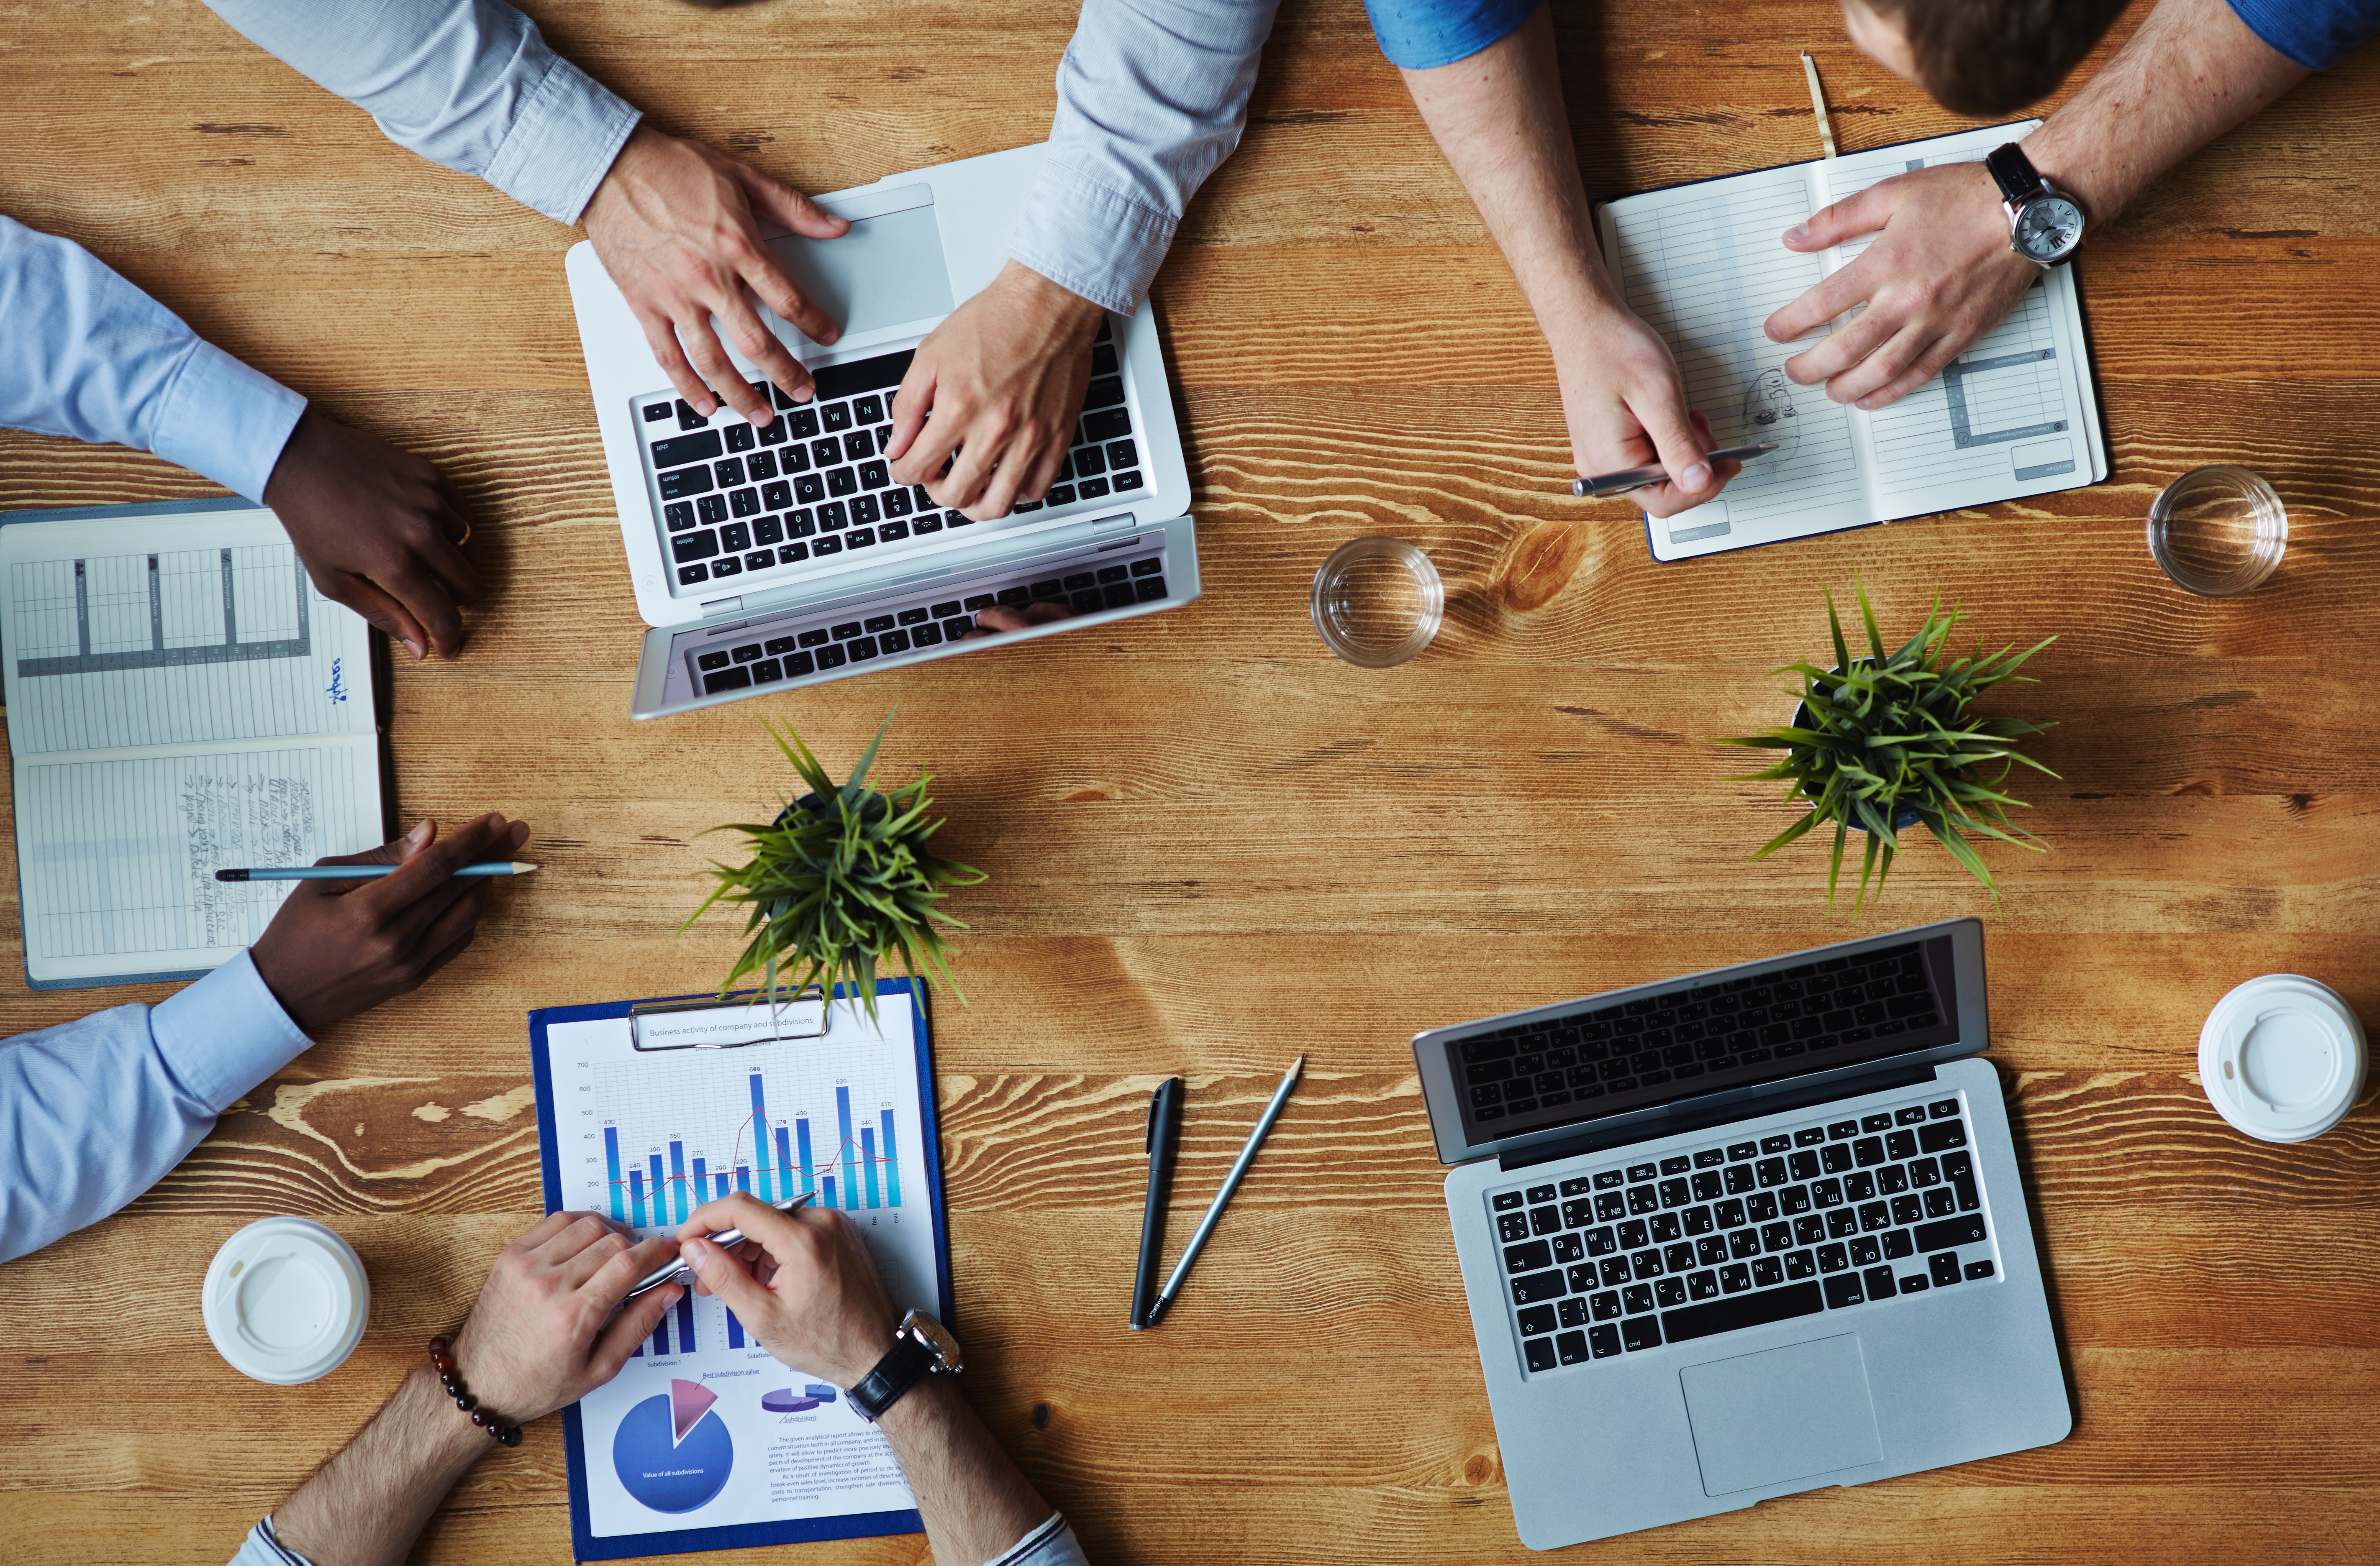
[[[1047,571],[1042,576],[1040,571]],[[1119,552],[1111,559],[1081,559],[1071,564],[1042,564],[1031,571],[1035,581],[997,585],[1000,578],[973,581],[964,588],[938,583],[926,597],[892,597],[866,607],[845,607],[828,614],[783,614],[754,621],[743,635],[721,635],[704,647],[688,652],[695,688],[702,695],[726,690],[750,690],[823,674],[847,664],[864,664],[919,647],[954,643],[976,628],[976,614],[992,605],[1023,609],[1026,605],[1066,605],[1069,614],[1092,614],[1097,609],[1126,609],[1147,605],[1166,595],[1164,550],[1145,555]],[[947,595],[947,597],[945,597]]]

